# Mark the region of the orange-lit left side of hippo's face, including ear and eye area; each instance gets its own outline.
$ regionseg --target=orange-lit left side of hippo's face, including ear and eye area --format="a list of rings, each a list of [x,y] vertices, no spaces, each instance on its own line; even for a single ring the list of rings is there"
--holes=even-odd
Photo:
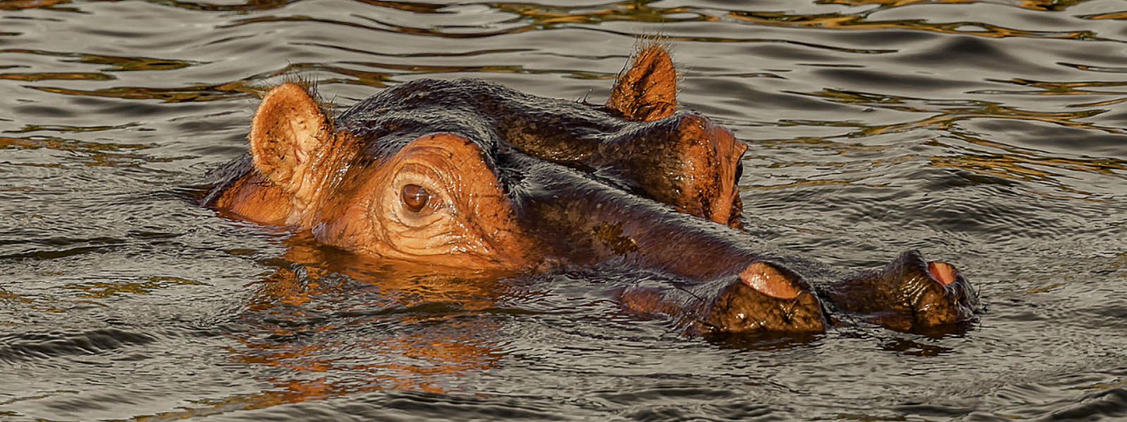
[[[332,132],[295,83],[264,98],[249,137],[255,171],[212,203],[231,216],[311,231],[322,243],[358,254],[423,264],[523,269],[543,258],[512,221],[500,183],[464,137],[423,136],[372,165],[354,165],[358,142]],[[396,207],[401,201],[392,187],[411,165],[426,173],[419,183],[434,183],[425,212],[441,217],[418,233],[397,224],[412,213]]]

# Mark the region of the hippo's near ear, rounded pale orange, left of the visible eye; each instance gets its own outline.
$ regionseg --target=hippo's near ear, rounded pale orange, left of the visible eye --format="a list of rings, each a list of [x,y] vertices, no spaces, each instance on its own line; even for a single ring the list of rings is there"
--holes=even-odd
[[[270,90],[250,124],[255,168],[275,185],[298,192],[309,179],[310,161],[330,136],[329,122],[301,86],[286,82]]]

